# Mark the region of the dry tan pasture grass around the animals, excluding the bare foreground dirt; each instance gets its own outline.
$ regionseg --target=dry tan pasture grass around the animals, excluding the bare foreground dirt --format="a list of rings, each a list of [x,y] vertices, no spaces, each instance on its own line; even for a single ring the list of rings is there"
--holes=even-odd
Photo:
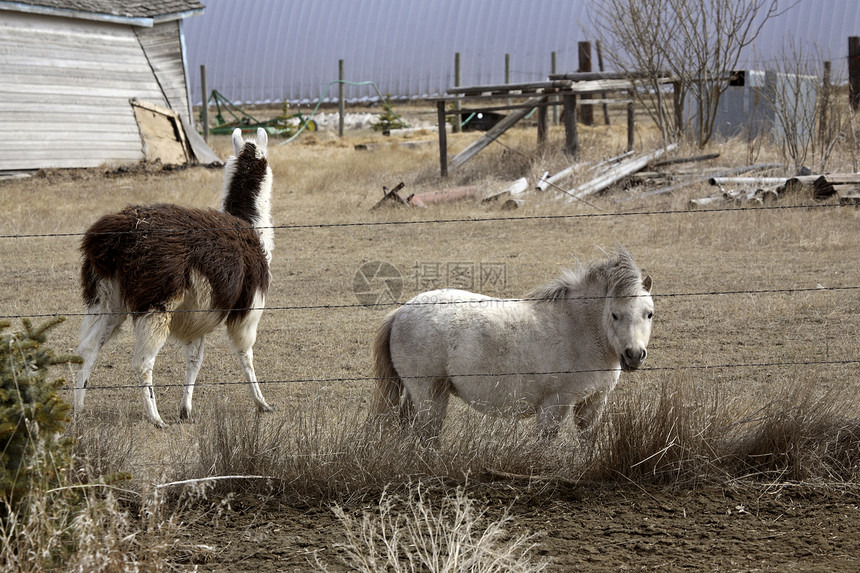
[[[409,137],[434,139],[429,133]],[[474,137],[452,137],[452,150]],[[581,137],[587,161],[623,150],[623,129],[616,126],[583,128]],[[493,190],[521,176],[533,182],[546,170],[566,166],[557,151],[560,139],[553,129],[549,145],[538,153],[533,130],[512,130],[449,180],[438,177],[434,145],[356,151],[356,142],[391,141],[368,134],[345,141],[319,134],[284,147],[273,142],[273,220],[288,228],[276,230],[267,301],[272,310],[260,325],[255,355],[263,392],[277,412],[252,413],[241,370],[218,334],[207,347],[191,424],[178,423],[181,349],[162,351],[154,372],[156,393],[163,417],[173,423],[156,430],[143,416],[126,329],[100,356],[87,412],[70,430],[78,439],[81,466],[96,476],[129,472],[132,480],[122,485],[141,499],[158,483],[267,476],[262,484],[220,481],[209,491],[216,498],[263,492],[291,503],[349,503],[417,479],[457,485],[500,475],[677,486],[774,480],[856,485],[858,369],[856,362],[833,362],[858,359],[860,298],[856,290],[805,289],[860,285],[857,209],[687,211],[691,197],[713,191],[696,184],[672,195],[615,191],[589,205],[561,201],[553,192],[531,194],[512,214],[469,202],[369,211],[383,186],[400,181],[408,192],[467,184]],[[652,146],[654,133],[639,133],[637,142]],[[229,141],[216,138],[213,147],[225,156]],[[687,169],[777,156],[757,142],[718,143],[705,151],[711,150],[721,157]],[[683,149],[678,155],[698,153]],[[850,149],[837,150],[832,169],[850,170],[850,165]],[[221,177],[218,170],[200,168],[42,173],[0,184],[0,229],[3,234],[79,233],[99,215],[128,203],[211,206]],[[565,185],[587,177],[577,174]],[[780,205],[810,202],[798,197]],[[632,214],[643,212],[655,214]],[[539,218],[548,215],[571,217]],[[507,216],[514,218],[470,221]],[[427,222],[455,219],[463,221]],[[352,222],[373,225],[328,226]],[[376,224],[398,222],[417,224]],[[73,351],[80,324],[74,313],[83,311],[79,237],[0,241],[0,314],[71,314],[52,343],[60,352]],[[352,279],[362,263],[384,260],[401,270],[401,300],[423,290],[416,275],[421,263],[441,268],[502,263],[506,280],[485,290],[515,297],[551,279],[559,267],[599,256],[599,247],[616,242],[654,277],[654,332],[646,368],[622,376],[593,447],[579,444],[571,429],[547,446],[536,440],[531,421],[486,419],[459,406],[452,408],[437,450],[416,448],[365,425],[370,342],[383,312],[342,307],[355,303]],[[782,289],[793,292],[755,292]],[[726,294],[707,294],[714,292]],[[320,308],[324,305],[340,308]],[[821,361],[828,364],[816,364]],[[73,372],[66,374],[72,379]],[[160,515],[158,523],[167,524],[181,489],[159,490],[170,494],[171,503],[141,515]],[[165,498],[159,499],[163,504]],[[145,506],[139,500],[124,503]],[[166,531],[123,511],[115,512],[116,523],[100,526],[115,529],[116,539],[123,538],[127,519],[136,535],[149,531],[159,537]],[[120,544],[104,551],[119,548],[143,559],[141,547]]]

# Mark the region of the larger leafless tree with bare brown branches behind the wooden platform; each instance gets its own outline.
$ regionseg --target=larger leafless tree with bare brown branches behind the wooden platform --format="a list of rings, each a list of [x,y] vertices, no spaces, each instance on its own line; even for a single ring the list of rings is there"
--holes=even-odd
[[[594,7],[592,20],[615,67],[651,78],[646,93],[636,95],[650,104],[664,134],[669,128],[680,134],[681,106],[691,96],[702,147],[714,133],[720,97],[741,53],[781,13],[777,0],[606,0]],[[673,117],[655,73],[669,73],[677,82]]]

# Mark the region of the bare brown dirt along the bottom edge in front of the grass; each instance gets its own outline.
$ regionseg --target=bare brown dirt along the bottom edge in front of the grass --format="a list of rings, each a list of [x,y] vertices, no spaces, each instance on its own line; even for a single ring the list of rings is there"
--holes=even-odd
[[[807,487],[642,489],[498,484],[469,492],[512,535],[533,534],[548,571],[851,571],[860,559],[860,496]],[[188,530],[209,546],[198,571],[348,570],[343,526],[326,507],[245,499],[218,523]],[[357,514],[361,508],[351,510]]]

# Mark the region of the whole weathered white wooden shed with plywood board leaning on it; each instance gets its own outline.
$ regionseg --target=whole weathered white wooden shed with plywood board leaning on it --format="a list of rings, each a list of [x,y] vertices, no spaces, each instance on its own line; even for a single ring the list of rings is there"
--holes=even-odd
[[[0,0],[0,171],[220,160],[193,128],[197,0]]]

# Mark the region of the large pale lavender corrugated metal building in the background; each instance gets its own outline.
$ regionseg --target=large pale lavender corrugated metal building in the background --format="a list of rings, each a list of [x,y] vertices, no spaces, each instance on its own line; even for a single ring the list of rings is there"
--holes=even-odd
[[[501,84],[505,54],[510,81],[540,81],[579,67],[577,44],[593,39],[590,9],[599,0],[206,0],[186,26],[192,98],[208,87],[236,103],[333,100],[338,60],[345,79],[373,82],[346,89],[350,101],[379,94],[413,98],[454,85]],[[847,37],[860,35],[857,0],[779,0],[785,14],[770,20],[739,69],[776,61],[788,39],[806,54],[834,61],[845,76]],[[597,69],[596,57],[593,68]]]

